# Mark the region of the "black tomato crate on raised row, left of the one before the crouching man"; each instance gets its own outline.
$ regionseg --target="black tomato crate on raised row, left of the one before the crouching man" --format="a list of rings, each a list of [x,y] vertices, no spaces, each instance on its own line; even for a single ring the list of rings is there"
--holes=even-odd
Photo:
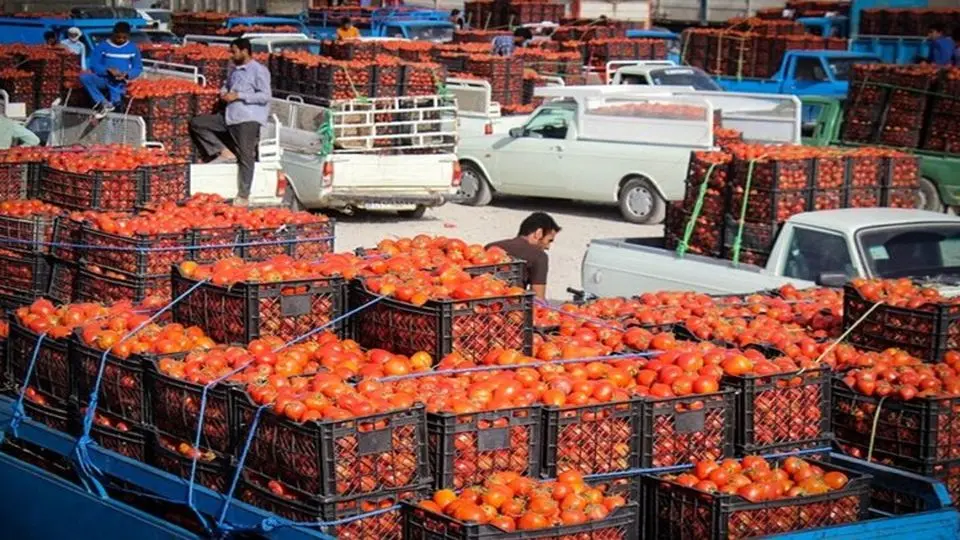
[[[197,282],[173,268],[173,296]],[[261,335],[284,340],[300,337],[344,313],[343,278],[320,277],[277,283],[234,283],[229,287],[204,283],[173,306],[173,318],[205,328],[218,343],[249,343]],[[338,323],[331,332],[341,328]]]

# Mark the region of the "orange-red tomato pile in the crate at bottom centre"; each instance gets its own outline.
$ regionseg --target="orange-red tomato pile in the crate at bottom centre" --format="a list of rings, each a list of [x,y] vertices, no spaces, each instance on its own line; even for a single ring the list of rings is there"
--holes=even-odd
[[[495,473],[483,486],[460,493],[442,489],[417,506],[463,523],[513,532],[600,521],[627,504],[624,497],[591,488],[579,473],[570,471],[555,481]]]

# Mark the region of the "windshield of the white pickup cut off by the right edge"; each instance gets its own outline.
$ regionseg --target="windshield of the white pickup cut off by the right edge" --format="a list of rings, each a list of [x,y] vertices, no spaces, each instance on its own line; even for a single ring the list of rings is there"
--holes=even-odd
[[[867,229],[857,239],[873,276],[960,277],[960,223]]]

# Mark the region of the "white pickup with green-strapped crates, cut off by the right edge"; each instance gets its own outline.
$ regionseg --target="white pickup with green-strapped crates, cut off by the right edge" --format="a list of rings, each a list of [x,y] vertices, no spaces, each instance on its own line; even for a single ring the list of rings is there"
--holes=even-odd
[[[924,277],[960,281],[960,217],[896,208],[807,212],[782,226],[766,267],[663,247],[663,238],[590,242],[583,257],[583,290],[632,296],[678,290],[742,294],[814,284],[841,286],[853,277]]]

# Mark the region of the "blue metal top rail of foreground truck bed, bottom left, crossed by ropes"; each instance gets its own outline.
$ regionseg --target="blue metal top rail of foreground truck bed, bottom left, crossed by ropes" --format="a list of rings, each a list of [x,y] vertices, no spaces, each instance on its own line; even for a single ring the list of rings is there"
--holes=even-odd
[[[0,396],[0,426],[3,429],[10,425],[13,405],[14,400],[6,396]],[[68,457],[73,456],[74,446],[76,445],[74,437],[54,431],[30,419],[24,419],[21,422],[17,430],[17,437]],[[168,500],[186,500],[188,482],[182,478],[104,450],[97,445],[90,445],[88,453],[91,463],[107,476],[120,478]],[[6,490],[6,485],[0,482],[0,491],[4,492],[2,496],[11,496],[6,493]],[[15,494],[12,496],[15,496]],[[200,512],[211,516],[220,515],[226,500],[224,495],[199,485],[194,486],[193,496],[195,507]],[[271,516],[272,514],[264,510],[234,500],[227,512],[226,523],[234,528],[255,528],[265,518]],[[120,536],[119,538],[123,537],[126,536]],[[332,540],[328,535],[303,527],[279,527],[271,531],[269,537],[277,540]],[[106,537],[100,536],[98,538]]]

